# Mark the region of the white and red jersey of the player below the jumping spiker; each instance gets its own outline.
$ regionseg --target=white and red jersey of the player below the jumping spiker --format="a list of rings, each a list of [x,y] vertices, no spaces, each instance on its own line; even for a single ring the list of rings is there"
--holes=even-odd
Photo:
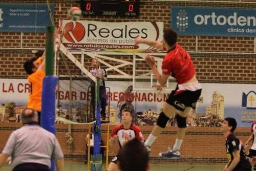
[[[120,147],[123,146],[127,141],[134,138],[140,141],[142,141],[143,138],[139,126],[136,126],[134,124],[131,124],[130,129],[124,129],[123,124],[115,126],[110,136],[112,138],[115,135],[118,136],[118,142]],[[128,136],[128,138],[126,138],[125,135]]]

